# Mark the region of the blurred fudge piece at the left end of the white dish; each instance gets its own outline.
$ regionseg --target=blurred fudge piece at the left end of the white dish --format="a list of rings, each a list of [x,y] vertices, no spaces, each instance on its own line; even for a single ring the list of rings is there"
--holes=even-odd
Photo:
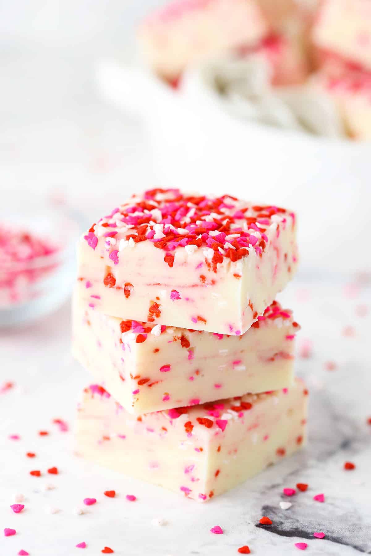
[[[137,37],[145,61],[172,81],[190,64],[267,33],[255,0],[177,0],[145,19]]]

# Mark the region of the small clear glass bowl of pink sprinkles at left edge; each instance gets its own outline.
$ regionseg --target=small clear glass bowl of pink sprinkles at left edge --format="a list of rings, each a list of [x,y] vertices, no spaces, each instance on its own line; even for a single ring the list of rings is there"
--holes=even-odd
[[[70,295],[78,218],[61,203],[4,193],[0,208],[0,326],[31,322]]]

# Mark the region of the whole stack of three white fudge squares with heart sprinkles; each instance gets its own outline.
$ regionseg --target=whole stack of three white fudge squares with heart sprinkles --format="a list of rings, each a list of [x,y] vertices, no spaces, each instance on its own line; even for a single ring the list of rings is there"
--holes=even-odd
[[[204,502],[305,444],[299,325],[274,300],[295,228],[281,207],[154,189],[83,234],[80,455]]]

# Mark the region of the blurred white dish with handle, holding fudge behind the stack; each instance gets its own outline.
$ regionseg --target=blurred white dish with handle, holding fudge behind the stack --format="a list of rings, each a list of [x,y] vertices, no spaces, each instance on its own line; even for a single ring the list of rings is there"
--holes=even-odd
[[[211,91],[175,91],[115,61],[98,64],[97,81],[108,101],[143,118],[154,185],[290,207],[304,269],[371,271],[371,143],[240,121]]]

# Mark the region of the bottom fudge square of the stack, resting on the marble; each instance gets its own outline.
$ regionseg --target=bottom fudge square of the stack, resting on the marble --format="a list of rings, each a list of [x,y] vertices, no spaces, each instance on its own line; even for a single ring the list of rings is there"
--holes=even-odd
[[[91,385],[78,406],[76,451],[204,502],[305,445],[307,394],[296,379],[288,389],[137,417]]]

